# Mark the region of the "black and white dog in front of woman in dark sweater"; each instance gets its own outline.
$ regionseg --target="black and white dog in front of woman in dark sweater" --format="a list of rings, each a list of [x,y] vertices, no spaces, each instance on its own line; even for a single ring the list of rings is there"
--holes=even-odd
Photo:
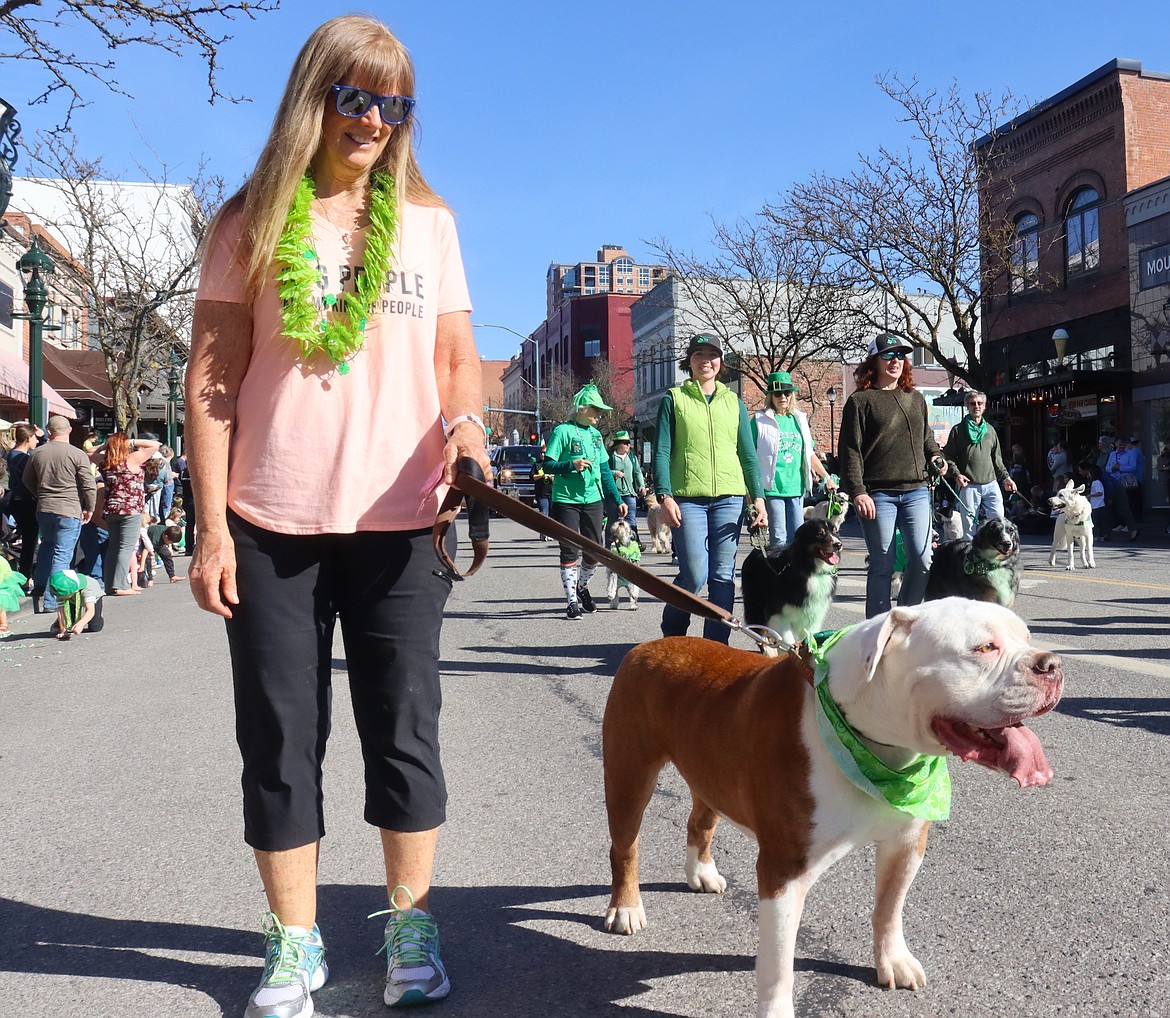
[[[1010,608],[1020,589],[1020,532],[1011,520],[989,520],[975,537],[935,549],[927,578],[928,601],[961,597]]]

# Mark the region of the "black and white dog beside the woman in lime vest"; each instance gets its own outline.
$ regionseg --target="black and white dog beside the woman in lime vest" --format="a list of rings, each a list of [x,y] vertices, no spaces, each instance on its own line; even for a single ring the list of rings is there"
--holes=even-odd
[[[840,538],[824,520],[801,523],[792,543],[771,555],[753,549],[739,570],[744,623],[775,630],[787,646],[819,632],[840,560]],[[764,653],[777,654],[772,648]]]

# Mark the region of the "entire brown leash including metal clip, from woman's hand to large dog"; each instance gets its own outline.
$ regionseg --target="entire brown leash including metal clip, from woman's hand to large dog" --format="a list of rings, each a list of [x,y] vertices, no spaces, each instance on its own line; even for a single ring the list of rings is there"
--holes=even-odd
[[[688,614],[723,623],[729,630],[742,633],[759,647],[790,649],[784,645],[780,635],[775,630],[770,630],[768,626],[744,625],[725,608],[721,608],[706,598],[693,594],[690,591],[684,591],[682,587],[675,586],[673,583],[655,576],[649,570],[635,565],[629,559],[622,558],[597,542],[590,541],[587,537],[583,537],[576,530],[570,530],[565,524],[545,516],[518,498],[497,491],[484,481],[483,470],[480,469],[480,465],[470,459],[470,456],[460,456],[455,463],[455,483],[447,493],[447,497],[439,510],[439,516],[435,517],[434,528],[431,531],[431,543],[439,560],[457,579],[472,576],[483,564],[483,559],[488,553],[487,518],[490,510],[494,509],[501,516],[507,516],[509,520],[519,523],[521,527],[584,551],[594,562],[605,563],[618,576],[641,587],[648,594],[669,605],[674,605]],[[461,573],[447,552],[446,537],[450,524],[459,515],[459,509],[464,497],[468,500],[468,532],[472,537],[475,556],[472,568],[466,573]],[[475,511],[480,514],[474,522],[470,516],[473,505],[475,507]],[[480,529],[481,524],[482,529]]]

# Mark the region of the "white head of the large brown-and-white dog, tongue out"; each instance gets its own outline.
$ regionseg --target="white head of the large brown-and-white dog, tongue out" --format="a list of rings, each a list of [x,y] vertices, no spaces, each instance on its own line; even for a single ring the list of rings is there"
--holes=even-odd
[[[954,752],[1021,787],[1052,779],[1023,722],[1060,700],[1060,659],[1028,646],[999,605],[943,598],[862,623],[830,651],[833,697],[858,730],[920,754]]]

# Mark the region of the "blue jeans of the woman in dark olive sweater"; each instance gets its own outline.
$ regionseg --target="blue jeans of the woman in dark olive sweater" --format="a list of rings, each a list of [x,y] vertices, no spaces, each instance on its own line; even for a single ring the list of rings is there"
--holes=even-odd
[[[869,491],[878,516],[861,521],[861,532],[869,552],[869,573],[866,577],[866,618],[872,619],[889,611],[889,585],[894,576],[894,556],[897,545],[895,531],[902,531],[906,549],[906,570],[902,573],[900,606],[922,604],[927,592],[927,575],[934,551],[930,517],[930,489],[924,484],[913,491]]]

